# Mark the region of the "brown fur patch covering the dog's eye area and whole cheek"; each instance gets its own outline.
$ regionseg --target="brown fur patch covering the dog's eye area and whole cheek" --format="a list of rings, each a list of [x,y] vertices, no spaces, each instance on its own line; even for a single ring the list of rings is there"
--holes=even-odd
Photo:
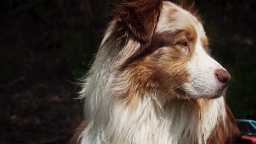
[[[181,85],[189,76],[185,64],[192,56],[195,41],[190,41],[190,51],[177,44],[177,41],[191,39],[191,33],[194,32],[190,31],[191,29],[187,29],[177,33],[163,32],[154,35],[148,53],[129,64],[123,72],[129,75],[130,83],[130,87],[121,94],[126,102],[135,103],[139,96],[156,88],[161,88],[166,93],[177,87],[182,89]],[[176,91],[173,94],[181,97],[181,93]]]

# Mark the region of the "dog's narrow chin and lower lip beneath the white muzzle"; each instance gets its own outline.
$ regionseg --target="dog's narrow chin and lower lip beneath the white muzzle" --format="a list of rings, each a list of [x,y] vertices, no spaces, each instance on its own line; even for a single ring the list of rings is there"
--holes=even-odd
[[[179,99],[217,99],[225,94],[226,88],[218,89],[216,92],[209,93],[207,95],[192,95],[182,88],[176,88],[175,93]]]

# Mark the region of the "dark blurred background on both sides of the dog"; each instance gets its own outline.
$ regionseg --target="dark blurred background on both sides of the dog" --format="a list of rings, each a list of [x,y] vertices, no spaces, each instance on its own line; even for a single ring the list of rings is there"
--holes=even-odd
[[[83,119],[75,84],[117,0],[0,2],[0,143],[65,143]],[[256,1],[195,1],[211,53],[232,75],[226,102],[256,119]],[[63,141],[59,141],[63,140]]]

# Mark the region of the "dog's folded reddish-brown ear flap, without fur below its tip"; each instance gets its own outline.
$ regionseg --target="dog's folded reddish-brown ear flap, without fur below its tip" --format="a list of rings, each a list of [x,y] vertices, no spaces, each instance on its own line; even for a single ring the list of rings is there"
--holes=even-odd
[[[131,33],[143,43],[151,40],[158,21],[162,0],[140,0],[118,5],[114,16],[124,22]]]

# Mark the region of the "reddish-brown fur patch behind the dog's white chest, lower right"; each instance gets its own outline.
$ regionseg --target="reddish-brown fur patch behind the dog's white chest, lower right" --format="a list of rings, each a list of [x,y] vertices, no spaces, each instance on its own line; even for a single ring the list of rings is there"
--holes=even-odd
[[[212,134],[208,138],[207,143],[233,143],[240,137],[240,131],[237,128],[235,117],[226,104],[225,110],[225,122],[222,121],[222,117],[219,118],[219,121],[216,124],[216,127],[213,129]]]

